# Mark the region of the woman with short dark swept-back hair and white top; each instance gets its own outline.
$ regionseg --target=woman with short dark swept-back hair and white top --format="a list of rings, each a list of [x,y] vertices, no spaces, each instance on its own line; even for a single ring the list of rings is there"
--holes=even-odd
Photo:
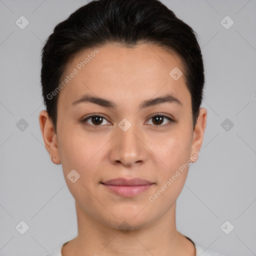
[[[42,50],[39,115],[75,199],[78,234],[51,256],[220,255],[176,230],[206,109],[195,32],[157,0],[97,0]]]

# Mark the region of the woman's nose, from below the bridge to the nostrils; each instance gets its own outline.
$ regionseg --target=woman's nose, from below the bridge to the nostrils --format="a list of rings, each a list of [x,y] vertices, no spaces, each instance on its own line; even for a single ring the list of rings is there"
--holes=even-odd
[[[139,127],[133,124],[126,131],[116,127],[116,135],[111,141],[110,161],[125,167],[137,166],[145,162],[146,148]]]

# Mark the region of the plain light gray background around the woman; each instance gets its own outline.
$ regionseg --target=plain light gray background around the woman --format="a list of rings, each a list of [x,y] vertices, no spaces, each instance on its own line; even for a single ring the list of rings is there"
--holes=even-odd
[[[177,229],[226,256],[256,255],[256,1],[162,2],[197,32],[206,78],[207,126],[177,200]],[[40,50],[84,3],[0,0],[0,256],[44,255],[76,236],[74,199],[38,122]],[[21,15],[29,20],[24,29],[15,24]],[[227,15],[229,29],[230,19],[221,22]],[[29,226],[23,235],[15,229],[21,220]],[[221,229],[226,220],[229,234]]]

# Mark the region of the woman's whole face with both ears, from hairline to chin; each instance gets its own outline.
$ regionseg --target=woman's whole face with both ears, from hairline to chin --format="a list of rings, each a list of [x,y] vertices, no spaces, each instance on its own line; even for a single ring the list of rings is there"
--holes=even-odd
[[[40,124],[80,213],[136,229],[174,209],[188,163],[198,157],[206,110],[193,129],[184,72],[176,79],[173,68],[182,71],[176,54],[146,44],[86,49],[67,66],[64,77],[75,74],[58,92],[56,134],[45,111]],[[115,178],[149,184],[102,184]]]

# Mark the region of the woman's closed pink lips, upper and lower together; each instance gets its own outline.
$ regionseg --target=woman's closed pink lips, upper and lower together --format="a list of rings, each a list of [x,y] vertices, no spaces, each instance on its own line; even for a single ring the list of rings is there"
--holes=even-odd
[[[123,197],[135,196],[147,190],[154,183],[140,178],[115,178],[101,182],[103,186]]]

